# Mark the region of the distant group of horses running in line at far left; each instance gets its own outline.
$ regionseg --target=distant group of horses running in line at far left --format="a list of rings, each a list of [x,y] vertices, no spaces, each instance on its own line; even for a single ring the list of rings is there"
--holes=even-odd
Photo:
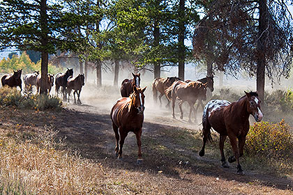
[[[22,70],[13,70],[13,74],[3,75],[1,78],[2,86],[10,86],[10,87],[20,87],[20,91],[22,91]],[[32,91],[33,86],[36,86],[37,93],[40,92],[41,86],[41,75],[38,71],[33,73],[24,75],[24,88],[26,91]],[[47,74],[47,77],[43,79],[45,82],[44,89],[45,93],[50,94],[52,86],[54,86],[54,75]],[[73,77],[73,69],[67,69],[65,73],[59,72],[55,77],[55,93],[59,94],[59,88],[62,87],[62,95],[63,100],[67,100],[68,102],[70,93],[72,90],[74,96],[74,102],[76,103],[75,94],[77,94],[77,104],[81,104],[80,101],[80,92],[82,91],[82,86],[84,86],[84,75],[80,74],[76,77]]]

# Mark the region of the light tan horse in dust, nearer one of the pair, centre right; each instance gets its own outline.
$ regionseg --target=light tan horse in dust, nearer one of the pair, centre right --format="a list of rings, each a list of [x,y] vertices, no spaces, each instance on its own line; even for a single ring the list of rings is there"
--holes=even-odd
[[[174,107],[176,99],[179,100],[179,109],[181,111],[180,118],[183,119],[182,104],[188,102],[190,106],[188,121],[191,122],[191,113],[196,114],[194,104],[197,99],[206,100],[206,84],[199,81],[191,81],[186,83],[184,81],[176,81],[172,85],[172,109],[173,118],[175,118]],[[195,119],[196,120],[196,119]]]

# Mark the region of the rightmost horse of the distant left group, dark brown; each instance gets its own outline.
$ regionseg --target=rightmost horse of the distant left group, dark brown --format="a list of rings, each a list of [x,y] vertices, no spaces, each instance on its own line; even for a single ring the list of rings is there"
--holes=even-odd
[[[75,93],[77,94],[77,104],[82,104],[80,101],[80,92],[82,91],[82,86],[84,86],[84,74],[80,74],[77,77],[70,76],[67,79],[67,91],[68,93],[68,102],[71,90],[74,90],[73,97],[74,103],[76,104]]]

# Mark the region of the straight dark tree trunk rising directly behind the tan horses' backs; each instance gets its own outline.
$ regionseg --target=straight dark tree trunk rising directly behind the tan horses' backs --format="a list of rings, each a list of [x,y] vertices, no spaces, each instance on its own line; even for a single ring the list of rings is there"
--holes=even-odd
[[[184,35],[186,31],[185,22],[184,22],[184,13],[185,11],[185,0],[179,0],[179,35],[178,35],[178,43],[179,43],[179,63],[178,63],[178,76],[179,78],[184,80],[184,61],[185,61],[185,47],[184,47]]]

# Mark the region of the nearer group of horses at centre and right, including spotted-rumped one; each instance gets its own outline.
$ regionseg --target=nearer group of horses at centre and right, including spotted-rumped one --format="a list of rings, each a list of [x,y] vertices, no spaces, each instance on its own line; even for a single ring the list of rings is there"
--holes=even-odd
[[[142,123],[144,122],[144,91],[147,87],[140,88],[140,74],[133,74],[133,79],[124,79],[121,84],[121,96],[111,109],[110,117],[116,138],[115,152],[118,159],[122,157],[124,140],[129,132],[133,132],[137,139],[138,157],[137,163],[142,162]],[[202,139],[203,145],[199,155],[204,156],[206,141],[211,141],[211,128],[220,134],[220,155],[224,168],[230,166],[228,162],[236,162],[236,173],[243,174],[239,157],[243,155],[243,146],[246,135],[250,127],[250,114],[257,122],[262,120],[260,99],[256,92],[245,92],[245,95],[236,102],[226,100],[211,100],[206,106],[202,100],[206,100],[206,88],[213,91],[213,77],[205,77],[197,81],[181,81],[179,77],[167,77],[154,79],[152,83],[153,100],[156,102],[158,96],[160,104],[161,98],[166,96],[169,106],[172,101],[172,116],[176,100],[179,100],[180,118],[183,118],[182,104],[188,102],[190,105],[189,121],[191,121],[192,111],[196,114],[199,105],[202,105],[204,113],[202,116]],[[198,100],[197,108],[194,108]],[[226,162],[224,154],[225,139],[229,137],[234,155]],[[238,144],[237,144],[238,139]]]

